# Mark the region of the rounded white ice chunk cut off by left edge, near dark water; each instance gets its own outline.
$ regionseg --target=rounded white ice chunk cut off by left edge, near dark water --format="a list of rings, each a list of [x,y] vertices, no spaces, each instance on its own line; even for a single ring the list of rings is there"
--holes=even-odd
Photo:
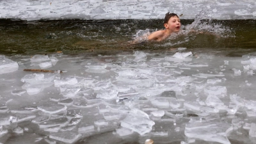
[[[17,62],[5,58],[4,55],[0,55],[0,74],[15,72],[18,68]]]

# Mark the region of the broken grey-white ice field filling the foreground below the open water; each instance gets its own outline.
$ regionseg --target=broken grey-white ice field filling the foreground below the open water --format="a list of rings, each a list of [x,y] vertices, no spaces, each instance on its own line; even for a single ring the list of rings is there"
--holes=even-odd
[[[256,65],[255,54],[234,58],[178,49],[1,58],[17,68],[0,74],[4,143],[10,133],[32,136],[12,137],[13,143],[144,143],[150,138],[229,144],[253,143],[256,137],[255,69],[250,67]],[[23,71],[40,68],[42,61],[65,72]],[[6,63],[1,64],[4,70]]]

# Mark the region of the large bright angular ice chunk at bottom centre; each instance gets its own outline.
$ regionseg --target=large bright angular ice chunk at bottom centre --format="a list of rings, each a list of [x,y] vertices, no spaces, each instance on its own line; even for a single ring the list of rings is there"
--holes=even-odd
[[[155,122],[149,119],[147,113],[139,109],[132,109],[129,115],[121,121],[122,127],[138,132],[140,135],[150,132],[154,124]]]

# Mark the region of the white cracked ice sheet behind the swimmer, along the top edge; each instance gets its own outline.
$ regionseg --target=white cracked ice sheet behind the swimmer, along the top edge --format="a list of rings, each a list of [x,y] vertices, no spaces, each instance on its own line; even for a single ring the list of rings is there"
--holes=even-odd
[[[165,1],[165,0],[2,0],[2,19],[163,19],[166,12],[194,19],[207,8],[213,19],[255,19],[254,0]]]

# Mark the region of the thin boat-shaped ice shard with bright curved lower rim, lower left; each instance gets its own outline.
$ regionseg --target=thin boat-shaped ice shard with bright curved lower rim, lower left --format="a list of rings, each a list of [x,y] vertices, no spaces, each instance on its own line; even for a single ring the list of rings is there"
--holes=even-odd
[[[59,113],[60,111],[65,111],[67,106],[61,104],[45,104],[43,106],[38,106],[37,108],[44,113],[54,114]]]

